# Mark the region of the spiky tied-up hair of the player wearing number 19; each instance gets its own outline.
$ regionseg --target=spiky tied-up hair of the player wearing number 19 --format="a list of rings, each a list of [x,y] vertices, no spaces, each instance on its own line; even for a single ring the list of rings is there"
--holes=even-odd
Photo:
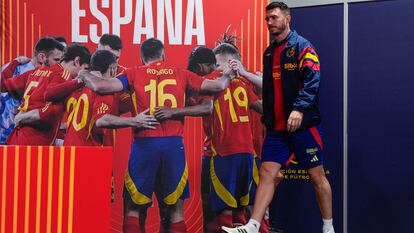
[[[230,26],[222,34],[221,38],[217,41],[216,47],[213,49],[214,54],[232,55],[235,59],[241,60],[239,48],[236,46],[236,40],[239,40],[234,34],[229,34]]]

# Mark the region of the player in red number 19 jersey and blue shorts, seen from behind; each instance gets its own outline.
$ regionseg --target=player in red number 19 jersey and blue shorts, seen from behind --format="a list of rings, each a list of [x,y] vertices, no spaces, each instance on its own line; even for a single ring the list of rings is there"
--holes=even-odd
[[[240,59],[234,44],[220,43],[213,51],[217,70],[230,67],[232,59]],[[245,223],[244,210],[249,204],[254,153],[249,109],[262,112],[262,108],[250,83],[237,73],[233,75],[227,89],[214,100],[210,198],[216,217],[208,232],[220,232],[223,225]]]

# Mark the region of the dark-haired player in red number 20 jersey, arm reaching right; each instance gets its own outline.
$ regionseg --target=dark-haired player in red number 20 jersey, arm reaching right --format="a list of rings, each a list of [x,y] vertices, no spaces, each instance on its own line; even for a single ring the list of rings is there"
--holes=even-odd
[[[102,79],[115,78],[117,65],[116,56],[106,50],[96,51],[91,58],[92,72]],[[68,115],[65,146],[102,146],[105,129],[123,127],[155,129],[157,124],[155,117],[145,115],[145,112],[136,117],[112,115],[114,96],[99,95],[86,86],[74,91],[66,103],[67,109],[71,111]],[[149,122],[153,125],[149,125]]]

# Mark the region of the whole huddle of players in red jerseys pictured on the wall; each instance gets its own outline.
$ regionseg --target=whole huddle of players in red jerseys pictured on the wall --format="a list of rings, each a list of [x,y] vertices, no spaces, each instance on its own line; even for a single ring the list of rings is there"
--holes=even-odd
[[[120,66],[121,50],[116,35],[103,35],[92,55],[82,44],[65,46],[43,37],[32,59],[18,57],[7,64],[1,91],[21,103],[5,144],[56,145],[60,137],[64,146],[111,146],[113,129],[132,127],[124,232],[145,231],[152,193],[160,203],[162,228],[185,232],[183,200],[189,187],[184,116],[203,116],[203,179],[211,181],[203,188],[216,187],[205,192],[211,196],[210,212],[227,206],[242,211],[253,180],[250,109],[262,110],[254,86],[241,75],[246,71],[237,47],[232,41],[220,42],[214,50],[196,47],[188,70],[168,65],[163,43],[154,38],[141,45],[142,66]],[[28,64],[32,69],[16,75]],[[120,116],[126,112],[132,117]],[[210,231],[220,231],[222,224]]]

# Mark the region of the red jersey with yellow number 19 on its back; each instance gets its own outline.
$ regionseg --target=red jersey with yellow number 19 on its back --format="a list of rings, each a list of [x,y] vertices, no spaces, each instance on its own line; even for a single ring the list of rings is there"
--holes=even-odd
[[[212,148],[221,156],[254,153],[250,128],[250,105],[258,100],[243,77],[232,79],[214,100]]]

